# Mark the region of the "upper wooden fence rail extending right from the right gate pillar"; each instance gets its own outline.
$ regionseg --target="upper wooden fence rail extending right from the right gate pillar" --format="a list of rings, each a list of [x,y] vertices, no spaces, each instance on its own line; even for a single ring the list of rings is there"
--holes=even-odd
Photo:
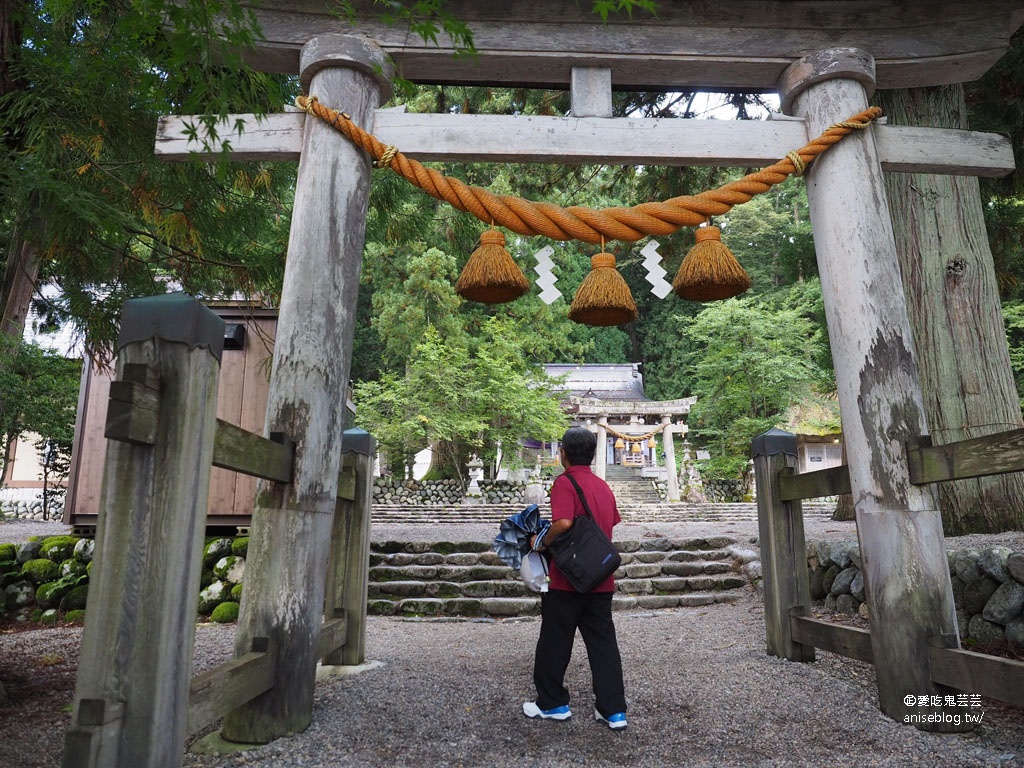
[[[945,445],[908,441],[910,482],[924,484],[1024,471],[1024,429],[972,437]]]

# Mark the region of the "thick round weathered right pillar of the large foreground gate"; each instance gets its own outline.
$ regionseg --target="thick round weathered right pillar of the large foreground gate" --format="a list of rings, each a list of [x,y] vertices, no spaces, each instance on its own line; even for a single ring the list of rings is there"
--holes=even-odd
[[[783,111],[809,135],[867,106],[874,62],[850,48],[792,65]],[[928,638],[955,634],[949,566],[933,490],[910,484],[904,441],[927,434],[910,324],[870,129],[847,136],[807,174],[807,198],[863,558],[882,711],[924,730],[965,730],[914,697],[931,682]],[[939,699],[941,700],[941,699]],[[910,702],[910,703],[907,703]],[[935,708],[940,711],[941,708]],[[939,714],[941,714],[939,712]]]

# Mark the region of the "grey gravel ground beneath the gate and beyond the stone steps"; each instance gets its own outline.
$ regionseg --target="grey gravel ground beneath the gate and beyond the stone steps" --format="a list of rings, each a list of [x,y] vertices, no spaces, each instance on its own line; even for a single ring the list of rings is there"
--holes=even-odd
[[[28,526],[0,523],[0,541]],[[728,534],[741,544],[756,523],[625,525],[616,538],[659,534]],[[492,526],[388,525],[377,540],[478,539]],[[745,539],[743,537],[746,537]],[[856,539],[852,523],[808,522],[808,539]],[[1000,541],[1024,549],[1024,536],[969,538],[952,546]],[[567,685],[575,717],[534,722],[521,714],[532,698],[530,670],[538,620],[410,621],[372,617],[371,669],[322,680],[312,725],[303,733],[234,755],[187,754],[184,766],[327,768],[338,766],[488,766],[543,768],[641,766],[1020,766],[1024,713],[983,699],[980,727],[966,735],[930,734],[879,712],[868,665],[820,652],[813,664],[764,651],[763,602],[751,590],[735,604],[615,614],[623,650],[630,726],[611,732],[592,719],[590,673],[582,643]],[[231,656],[234,628],[200,626],[196,670]],[[34,677],[74,679],[80,631],[0,635],[0,669],[28,670],[9,685],[13,699]],[[55,659],[60,659],[56,662]],[[0,754],[12,767],[60,765],[61,712],[71,689],[28,696],[42,707],[0,707]],[[31,714],[29,714],[31,712]]]

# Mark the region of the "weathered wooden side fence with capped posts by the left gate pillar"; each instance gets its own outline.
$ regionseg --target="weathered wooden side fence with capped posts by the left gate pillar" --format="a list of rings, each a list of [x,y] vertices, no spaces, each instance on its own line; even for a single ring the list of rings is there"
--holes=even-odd
[[[215,418],[223,321],[180,294],[129,301],[111,387],[102,504],[65,741],[69,768],[180,766],[188,735],[274,685],[268,640],[189,679],[210,467],[280,483],[293,446]],[[343,407],[343,403],[339,407]],[[348,430],[338,482],[326,664],[365,660],[373,437]],[[274,599],[249,595],[243,600]]]

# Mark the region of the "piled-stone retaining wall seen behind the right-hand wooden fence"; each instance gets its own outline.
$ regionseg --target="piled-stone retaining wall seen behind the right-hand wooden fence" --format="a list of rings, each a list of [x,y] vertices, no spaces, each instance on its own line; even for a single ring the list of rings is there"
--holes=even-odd
[[[961,640],[1024,647],[1024,552],[1008,547],[949,550],[949,575]],[[860,548],[852,542],[807,546],[811,599],[826,611],[867,616]]]

